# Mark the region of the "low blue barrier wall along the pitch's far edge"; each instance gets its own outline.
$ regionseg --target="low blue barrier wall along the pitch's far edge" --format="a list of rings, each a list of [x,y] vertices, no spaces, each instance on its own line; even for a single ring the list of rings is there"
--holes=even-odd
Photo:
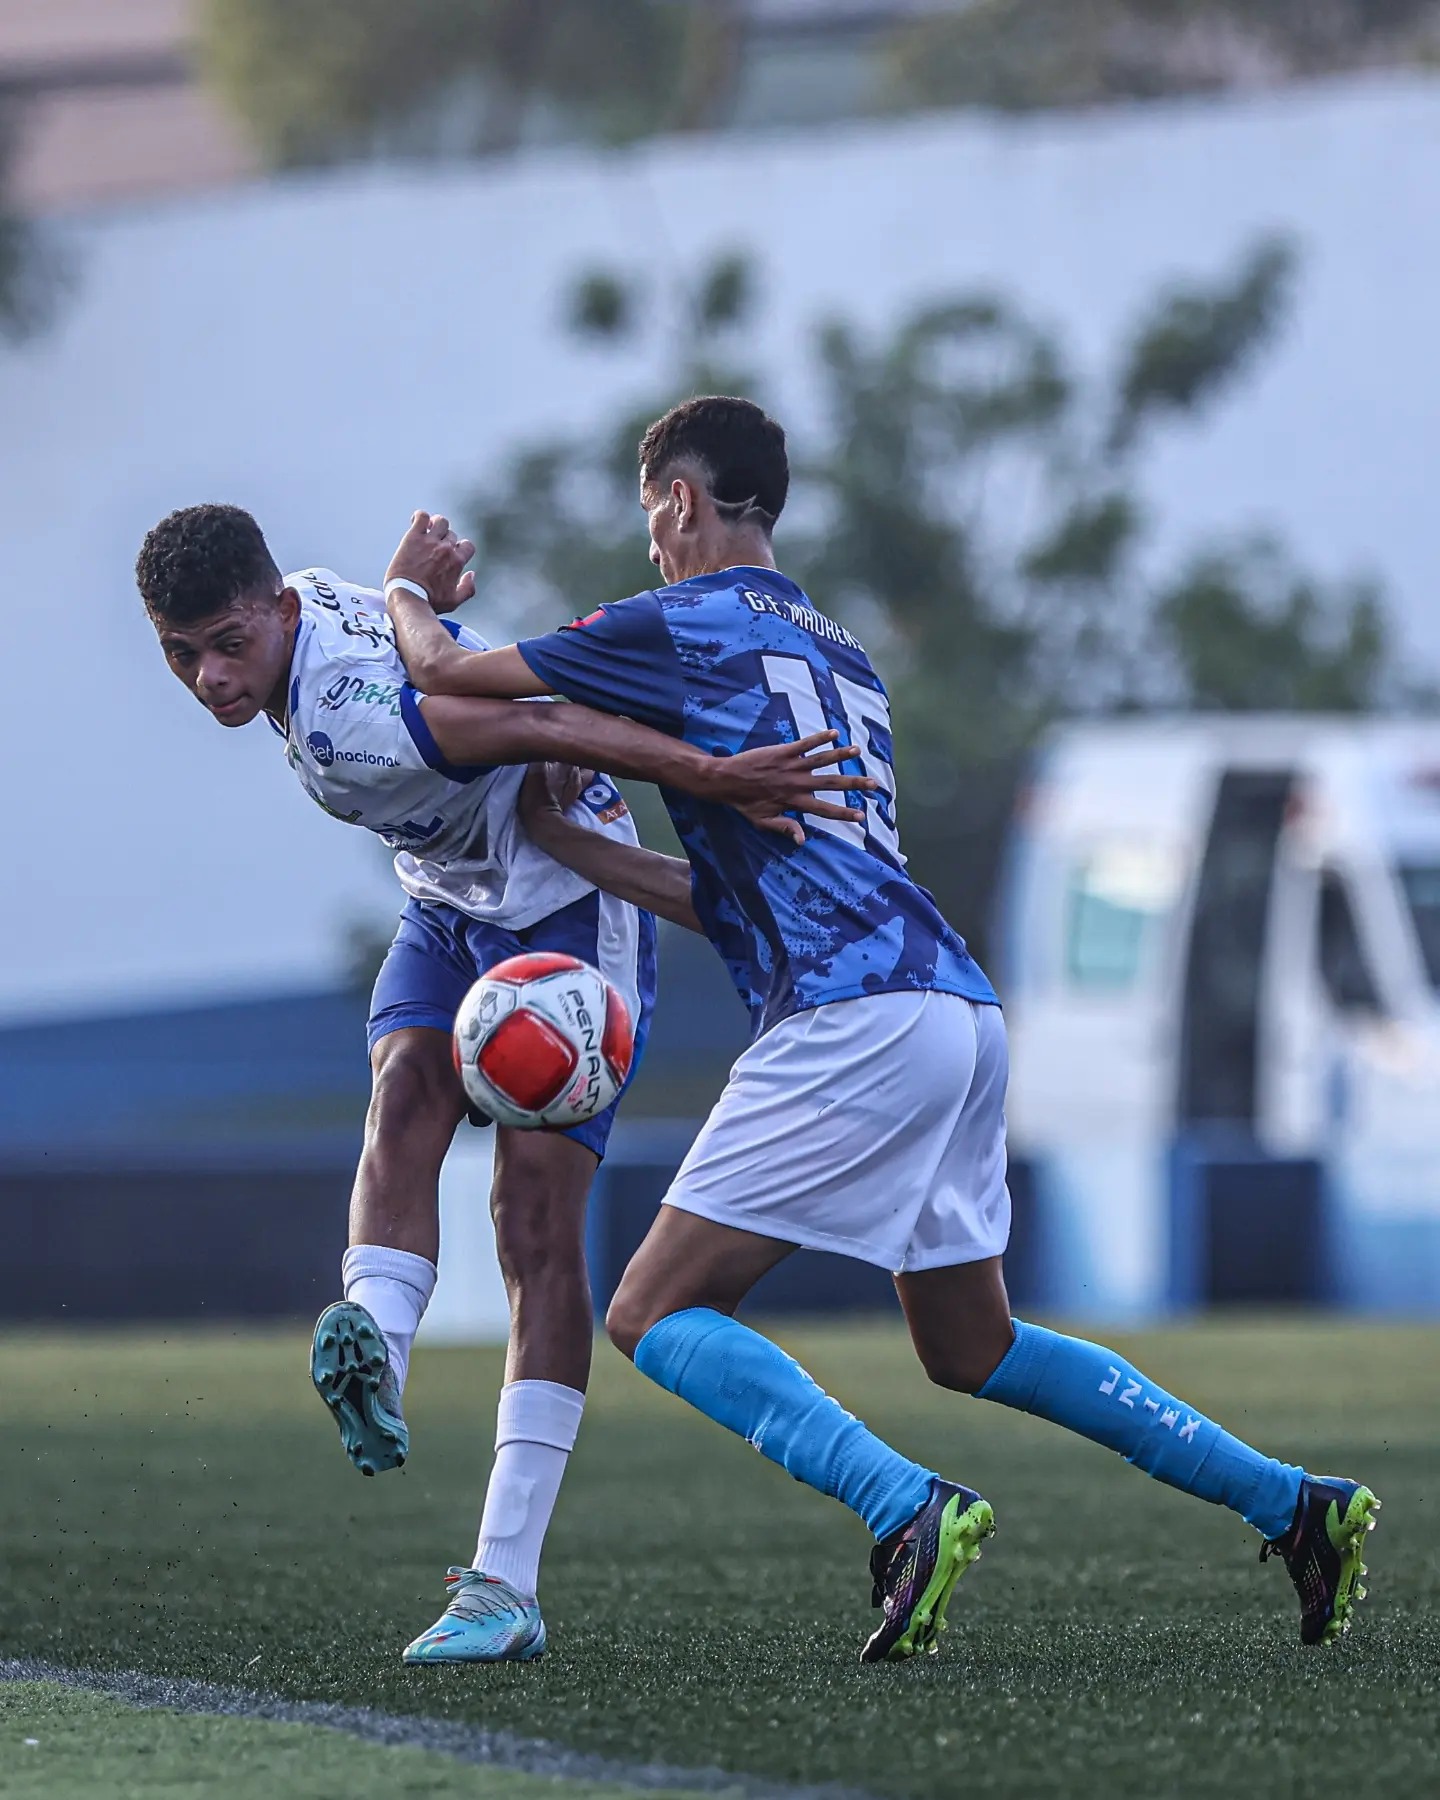
[[[743,1019],[713,959],[671,963],[643,1084],[589,1217],[608,1303],[724,1078]],[[369,1075],[364,999],[292,994],[0,1031],[0,1318],[254,1318],[333,1298]],[[641,1118],[662,1096],[673,1120]],[[1366,1181],[1375,1172],[1364,1165]],[[1402,1172],[1400,1172],[1402,1174]],[[1395,1177],[1399,1183],[1399,1175]],[[1379,1213],[1355,1170],[1276,1159],[1233,1129],[1154,1154],[1012,1161],[1017,1310],[1107,1319],[1201,1305],[1433,1314],[1440,1222]],[[1139,1242],[1139,1251],[1136,1249]],[[889,1309],[884,1271],[801,1253],[770,1312]]]

